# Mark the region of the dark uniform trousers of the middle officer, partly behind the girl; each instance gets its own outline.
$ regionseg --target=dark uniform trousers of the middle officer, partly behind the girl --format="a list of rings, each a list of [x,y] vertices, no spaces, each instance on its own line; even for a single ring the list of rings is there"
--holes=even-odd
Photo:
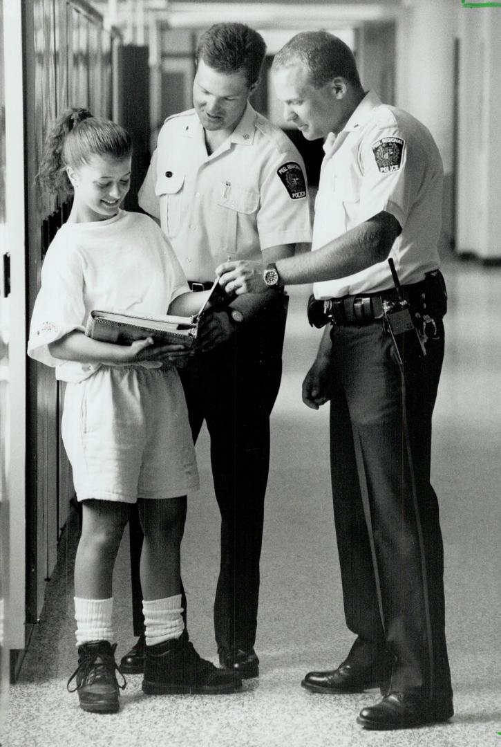
[[[270,414],[281,379],[288,297],[266,308],[208,353],[180,370],[193,440],[207,423],[214,490],[221,514],[220,575],[214,603],[218,649],[248,651],[255,643],[270,464]],[[138,522],[131,521],[134,633],[143,632]],[[200,562],[203,561],[201,550]],[[183,592],[183,607],[186,598]]]

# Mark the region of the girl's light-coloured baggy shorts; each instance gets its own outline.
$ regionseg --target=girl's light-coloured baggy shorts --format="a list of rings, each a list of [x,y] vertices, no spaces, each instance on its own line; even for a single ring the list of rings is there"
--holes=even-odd
[[[78,500],[135,503],[175,498],[199,486],[174,368],[102,366],[67,384],[61,431]]]

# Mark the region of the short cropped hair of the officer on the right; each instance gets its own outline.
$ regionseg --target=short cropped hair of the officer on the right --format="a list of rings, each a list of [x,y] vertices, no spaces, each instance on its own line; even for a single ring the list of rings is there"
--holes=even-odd
[[[311,84],[320,88],[332,78],[346,78],[361,88],[355,56],[349,46],[328,31],[302,31],[276,54],[272,69],[303,63],[309,70]]]

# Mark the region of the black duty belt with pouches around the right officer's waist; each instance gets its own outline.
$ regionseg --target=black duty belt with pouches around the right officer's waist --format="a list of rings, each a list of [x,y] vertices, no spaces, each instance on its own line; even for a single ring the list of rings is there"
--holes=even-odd
[[[424,280],[401,285],[400,291],[414,311],[426,312],[432,317],[443,317],[446,313],[446,289],[439,270],[428,273]],[[383,305],[399,300],[396,288],[358,296],[344,296],[319,301],[329,321],[339,325],[369,324],[382,319]]]

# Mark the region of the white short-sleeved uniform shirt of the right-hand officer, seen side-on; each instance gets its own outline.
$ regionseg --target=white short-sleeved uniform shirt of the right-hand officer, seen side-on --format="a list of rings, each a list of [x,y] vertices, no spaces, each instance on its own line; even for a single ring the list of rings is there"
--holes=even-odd
[[[387,211],[402,227],[390,252],[402,285],[437,269],[444,172],[426,127],[370,91],[337,137],[329,134],[324,150],[312,249]],[[339,298],[388,288],[393,280],[385,260],[342,279],[317,282],[314,294]]]

